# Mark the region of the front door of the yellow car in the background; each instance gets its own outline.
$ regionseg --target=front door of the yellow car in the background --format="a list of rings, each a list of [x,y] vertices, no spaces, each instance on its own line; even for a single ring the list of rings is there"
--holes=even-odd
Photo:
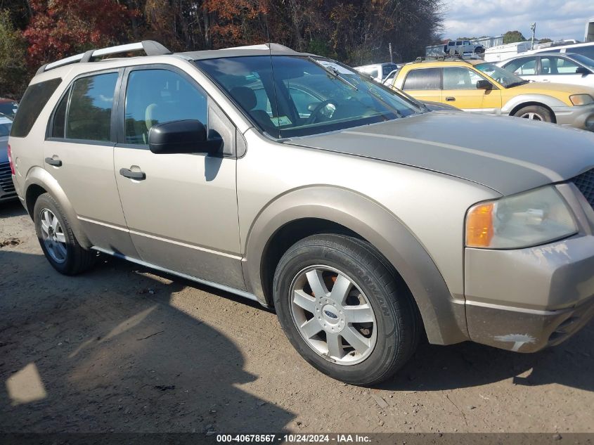
[[[444,68],[444,91],[441,101],[460,110],[497,114],[501,111],[501,91],[479,89],[477,82],[487,80],[467,67]]]

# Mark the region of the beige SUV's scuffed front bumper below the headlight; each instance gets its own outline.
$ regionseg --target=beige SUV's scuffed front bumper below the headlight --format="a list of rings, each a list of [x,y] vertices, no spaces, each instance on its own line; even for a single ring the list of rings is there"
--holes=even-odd
[[[578,234],[526,249],[466,249],[470,340],[536,352],[594,318],[594,209],[574,185],[557,188],[574,209]]]

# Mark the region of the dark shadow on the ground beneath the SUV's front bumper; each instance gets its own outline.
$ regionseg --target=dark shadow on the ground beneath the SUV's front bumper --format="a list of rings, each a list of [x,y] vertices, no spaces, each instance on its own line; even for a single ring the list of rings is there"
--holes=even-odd
[[[421,342],[394,379],[380,385],[394,391],[442,391],[511,379],[515,385],[557,383],[594,391],[594,323],[566,342],[534,354],[463,342],[450,346]]]

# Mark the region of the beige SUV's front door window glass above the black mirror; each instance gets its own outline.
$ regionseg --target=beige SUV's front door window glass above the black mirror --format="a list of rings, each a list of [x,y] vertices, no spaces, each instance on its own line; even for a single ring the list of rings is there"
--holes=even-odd
[[[199,120],[207,126],[206,93],[169,70],[130,72],[126,91],[125,141],[148,145],[155,124]]]

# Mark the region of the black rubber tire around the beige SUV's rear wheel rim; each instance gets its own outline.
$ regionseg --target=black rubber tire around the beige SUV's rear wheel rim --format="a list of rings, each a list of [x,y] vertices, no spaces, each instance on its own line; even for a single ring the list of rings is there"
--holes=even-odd
[[[65,260],[63,262],[56,261],[56,259],[49,253],[46,243],[44,243],[41,231],[41,212],[43,212],[44,209],[49,209],[51,213],[55,215],[62,228],[65,237],[66,252]],[[63,273],[64,275],[76,275],[77,273],[82,273],[90,269],[93,264],[95,264],[97,253],[92,250],[85,250],[79,245],[74,233],[72,233],[72,228],[70,227],[70,223],[63,210],[49,193],[43,193],[37,198],[33,209],[33,221],[37,239],[39,240],[39,245],[41,245],[41,250],[44,251],[46,259],[49,261],[49,264],[51,264],[53,269],[56,269],[56,271]]]

